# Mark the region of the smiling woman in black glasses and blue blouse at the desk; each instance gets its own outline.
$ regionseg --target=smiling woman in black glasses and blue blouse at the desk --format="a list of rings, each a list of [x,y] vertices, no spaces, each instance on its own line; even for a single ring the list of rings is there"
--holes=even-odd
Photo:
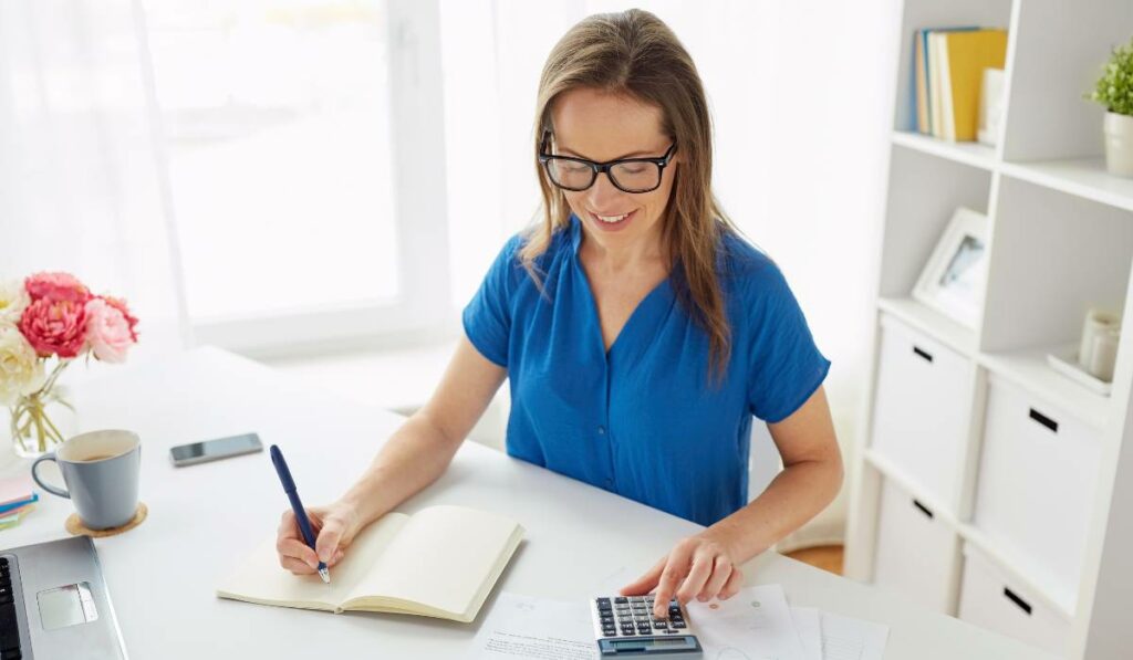
[[[365,525],[436,480],[510,377],[508,453],[707,525],[627,585],[729,598],[738,566],[834,498],[842,462],[815,346],[775,264],[710,190],[702,85],[659,19],[591,16],[539,84],[542,223],[512,238],[463,312],[429,402],[337,503],[312,509],[316,551],[290,512],[281,565],[309,574]],[[747,504],[752,415],[784,470]]]

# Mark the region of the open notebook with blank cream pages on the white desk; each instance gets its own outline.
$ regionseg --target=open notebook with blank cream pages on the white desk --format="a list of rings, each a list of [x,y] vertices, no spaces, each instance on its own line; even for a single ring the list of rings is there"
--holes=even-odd
[[[364,529],[331,568],[318,575],[280,568],[275,535],[216,589],[231,598],[280,607],[412,614],[462,623],[492,591],[523,537],[504,516],[460,506],[414,515],[389,513]]]

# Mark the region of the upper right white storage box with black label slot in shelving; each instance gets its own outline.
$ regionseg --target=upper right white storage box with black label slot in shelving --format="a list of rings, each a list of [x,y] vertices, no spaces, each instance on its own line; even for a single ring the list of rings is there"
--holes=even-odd
[[[973,524],[1073,608],[1099,479],[1097,430],[993,375]]]

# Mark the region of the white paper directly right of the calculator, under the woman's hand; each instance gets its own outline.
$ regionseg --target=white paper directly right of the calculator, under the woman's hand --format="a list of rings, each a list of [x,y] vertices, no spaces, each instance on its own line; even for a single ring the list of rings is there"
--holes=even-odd
[[[706,660],[808,660],[778,584],[685,607]]]

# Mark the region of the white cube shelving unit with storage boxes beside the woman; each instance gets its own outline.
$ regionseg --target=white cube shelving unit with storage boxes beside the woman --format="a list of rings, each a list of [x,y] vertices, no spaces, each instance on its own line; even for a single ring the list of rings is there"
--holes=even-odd
[[[851,577],[1066,658],[1133,649],[1133,342],[1105,396],[1051,369],[1085,311],[1133,333],[1133,179],[1083,98],[1128,0],[904,0]],[[998,145],[913,131],[913,34],[1008,29]],[[953,212],[988,216],[978,327],[911,298]]]

